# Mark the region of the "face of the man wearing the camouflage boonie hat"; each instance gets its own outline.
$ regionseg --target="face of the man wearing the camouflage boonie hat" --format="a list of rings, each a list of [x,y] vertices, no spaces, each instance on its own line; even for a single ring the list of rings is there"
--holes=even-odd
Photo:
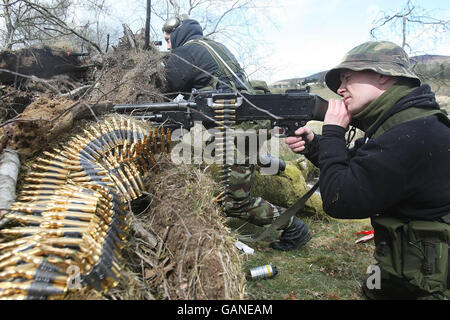
[[[344,104],[354,115],[378,98],[383,92],[380,86],[382,76],[370,70],[352,71],[343,69],[340,74],[341,86],[337,93],[344,98]]]

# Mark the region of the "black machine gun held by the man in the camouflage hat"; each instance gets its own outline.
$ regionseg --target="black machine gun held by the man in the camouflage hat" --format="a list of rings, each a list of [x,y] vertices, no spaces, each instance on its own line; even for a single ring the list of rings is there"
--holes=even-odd
[[[326,100],[305,90],[261,95],[208,91],[198,93],[192,101],[114,106],[118,113],[130,113],[172,129],[190,129],[196,121],[213,128],[270,120],[271,127],[279,127],[285,136],[294,136],[295,130],[310,120],[323,121],[327,108]]]

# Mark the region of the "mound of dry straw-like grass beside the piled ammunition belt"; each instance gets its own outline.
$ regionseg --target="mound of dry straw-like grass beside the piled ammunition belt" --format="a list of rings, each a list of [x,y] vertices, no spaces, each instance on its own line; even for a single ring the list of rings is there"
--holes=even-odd
[[[106,298],[243,299],[242,261],[212,201],[215,182],[200,168],[174,166],[167,155],[147,182],[150,202],[135,217],[158,244],[130,237],[122,280]]]

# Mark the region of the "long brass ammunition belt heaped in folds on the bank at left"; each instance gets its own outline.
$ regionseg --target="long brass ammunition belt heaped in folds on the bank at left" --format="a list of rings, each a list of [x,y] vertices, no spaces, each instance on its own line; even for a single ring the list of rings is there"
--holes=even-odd
[[[0,299],[58,299],[72,285],[100,292],[117,285],[126,204],[142,195],[143,175],[170,142],[168,130],[111,117],[44,152],[7,215],[20,226],[0,230],[7,239]]]

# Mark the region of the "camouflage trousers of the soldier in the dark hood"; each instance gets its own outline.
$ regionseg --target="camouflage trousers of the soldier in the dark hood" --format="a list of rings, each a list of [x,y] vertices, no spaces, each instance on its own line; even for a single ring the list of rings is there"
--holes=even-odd
[[[283,214],[283,208],[260,197],[252,198],[255,165],[233,165],[222,207],[228,217],[240,218],[257,226],[271,224]],[[289,226],[291,221],[287,224]],[[284,226],[286,228],[287,226]]]

